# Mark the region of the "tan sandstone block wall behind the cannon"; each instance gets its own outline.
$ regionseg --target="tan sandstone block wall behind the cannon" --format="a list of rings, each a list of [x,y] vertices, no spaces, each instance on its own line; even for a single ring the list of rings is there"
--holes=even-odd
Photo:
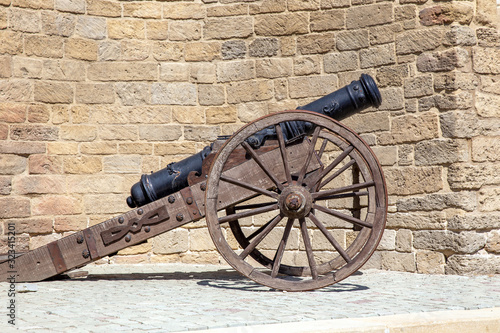
[[[497,23],[495,0],[0,0],[0,253],[6,223],[25,251],[104,221],[141,173],[365,72],[384,102],[345,123],[390,198],[367,265],[499,273]],[[198,222],[106,260],[222,259]]]

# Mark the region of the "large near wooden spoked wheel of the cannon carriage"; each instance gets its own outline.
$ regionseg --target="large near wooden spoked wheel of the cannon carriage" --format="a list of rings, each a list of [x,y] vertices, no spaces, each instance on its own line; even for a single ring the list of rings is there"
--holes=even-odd
[[[290,121],[314,130],[286,143]],[[247,142],[265,128],[276,132],[273,159]],[[250,161],[236,175],[259,174],[255,168],[260,179],[225,171],[237,149]],[[231,193],[241,197],[237,204],[226,204]],[[385,181],[368,145],[341,123],[302,110],[240,129],[219,150],[207,181],[207,225],[218,251],[243,275],[280,290],[317,289],[356,272],[375,251],[386,216]]]

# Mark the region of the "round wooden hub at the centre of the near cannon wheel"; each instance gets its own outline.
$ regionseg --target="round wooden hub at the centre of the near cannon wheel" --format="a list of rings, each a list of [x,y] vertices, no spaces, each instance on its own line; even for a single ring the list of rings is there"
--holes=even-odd
[[[312,197],[304,187],[293,185],[284,189],[278,202],[286,217],[303,218],[311,210]]]

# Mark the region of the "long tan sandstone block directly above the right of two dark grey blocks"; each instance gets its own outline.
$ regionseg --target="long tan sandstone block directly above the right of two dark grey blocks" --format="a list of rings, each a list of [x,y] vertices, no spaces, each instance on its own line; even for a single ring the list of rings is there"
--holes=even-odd
[[[308,21],[306,13],[258,15],[254,29],[258,36],[305,34],[309,30]]]

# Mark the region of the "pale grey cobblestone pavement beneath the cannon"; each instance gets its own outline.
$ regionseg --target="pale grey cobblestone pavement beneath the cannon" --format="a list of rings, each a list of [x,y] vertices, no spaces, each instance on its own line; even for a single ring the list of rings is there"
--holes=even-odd
[[[226,266],[88,266],[85,279],[19,283],[16,325],[0,283],[0,332],[176,332],[500,307],[500,276],[362,271],[317,291],[260,286]],[[20,292],[22,290],[25,292]]]

